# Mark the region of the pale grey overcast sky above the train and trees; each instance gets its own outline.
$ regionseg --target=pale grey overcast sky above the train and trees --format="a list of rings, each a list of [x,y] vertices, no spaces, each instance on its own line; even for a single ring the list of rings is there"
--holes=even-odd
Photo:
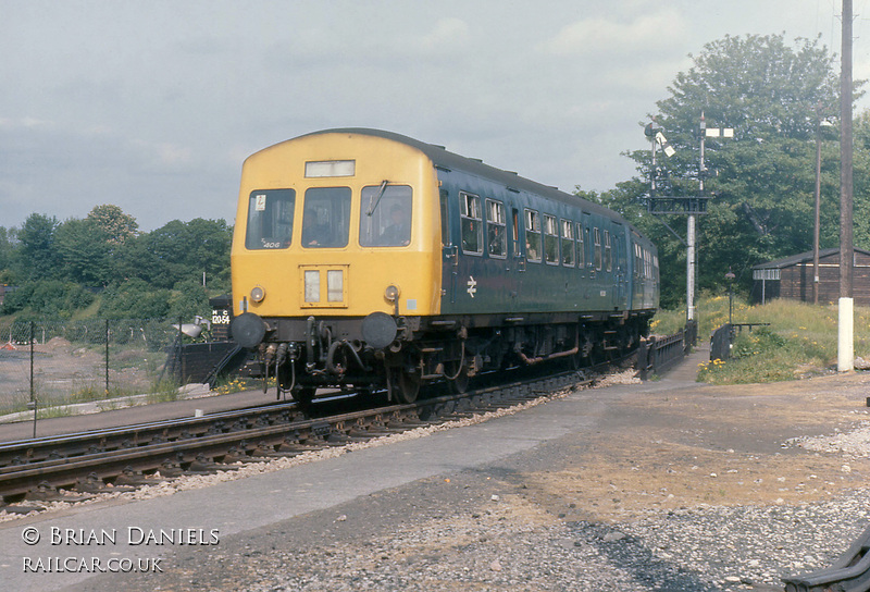
[[[870,0],[855,0],[855,77]],[[725,35],[821,35],[841,0],[0,0],[0,226],[114,203],[234,223],[241,162],[328,127],[563,190],[635,174],[656,101]],[[867,104],[861,104],[865,108]]]

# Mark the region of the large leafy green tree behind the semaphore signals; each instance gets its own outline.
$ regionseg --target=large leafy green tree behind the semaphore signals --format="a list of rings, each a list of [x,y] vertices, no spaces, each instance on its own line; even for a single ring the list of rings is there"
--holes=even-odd
[[[782,35],[726,36],[707,44],[693,61],[669,87],[671,96],[657,103],[655,124],[676,149],[673,158],[658,160],[658,185],[666,195],[697,195],[701,114],[708,127],[734,128],[733,139],[707,141],[705,183],[716,198],[708,214],[698,217],[698,283],[701,289],[722,289],[732,269],[748,286],[753,264],[812,246],[817,113],[835,111],[837,69],[818,39],[797,39],[792,48]],[[649,150],[630,155],[645,176],[649,156]],[[826,188],[836,171],[835,161],[825,158]],[[608,198],[632,209],[647,192],[644,183],[620,184]],[[823,226],[831,226],[836,195],[826,193],[824,203]],[[661,222],[684,229],[683,220],[646,213],[633,220],[663,254],[667,304],[675,304],[685,288],[685,248]]]

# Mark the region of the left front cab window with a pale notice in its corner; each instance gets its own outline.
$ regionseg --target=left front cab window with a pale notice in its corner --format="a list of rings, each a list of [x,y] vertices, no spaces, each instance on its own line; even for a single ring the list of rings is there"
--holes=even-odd
[[[251,192],[248,199],[245,247],[252,250],[289,247],[293,239],[295,207],[294,189]]]

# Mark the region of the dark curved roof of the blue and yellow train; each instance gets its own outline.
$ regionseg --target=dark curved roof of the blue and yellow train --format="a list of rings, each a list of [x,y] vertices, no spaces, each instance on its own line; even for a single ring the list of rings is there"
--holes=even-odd
[[[322,134],[360,134],[360,135],[375,136],[384,139],[389,139],[393,141],[398,141],[400,144],[405,144],[412,148],[417,148],[418,150],[426,155],[435,164],[435,166],[440,166],[448,170],[464,171],[467,173],[471,173],[474,175],[478,175],[501,183],[506,187],[527,192],[543,197],[548,197],[550,199],[556,199],[558,201],[563,201],[572,205],[583,203],[584,208],[589,210],[591,212],[596,212],[612,218],[617,218],[624,224],[631,225],[619,213],[608,208],[605,208],[604,206],[600,206],[598,203],[594,203],[586,199],[582,199],[575,195],[561,192],[556,187],[544,185],[542,183],[537,183],[535,181],[522,177],[512,171],[502,171],[501,169],[496,169],[495,166],[485,164],[482,160],[467,158],[457,155],[455,152],[450,152],[444,146],[438,146],[436,144],[426,144],[425,141],[403,136],[401,134],[396,134],[394,132],[385,132],[383,130],[372,130],[368,127],[338,127],[334,130],[322,130],[320,132],[312,132],[310,134],[304,134],[298,137],[302,138],[307,136],[316,136]]]

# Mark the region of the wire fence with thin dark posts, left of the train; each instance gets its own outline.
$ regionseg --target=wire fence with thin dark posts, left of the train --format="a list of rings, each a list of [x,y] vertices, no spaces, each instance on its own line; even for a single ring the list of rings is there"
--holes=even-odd
[[[0,321],[0,415],[169,396],[181,382],[179,320]],[[185,328],[188,325],[184,325]],[[200,338],[199,341],[203,341]]]

